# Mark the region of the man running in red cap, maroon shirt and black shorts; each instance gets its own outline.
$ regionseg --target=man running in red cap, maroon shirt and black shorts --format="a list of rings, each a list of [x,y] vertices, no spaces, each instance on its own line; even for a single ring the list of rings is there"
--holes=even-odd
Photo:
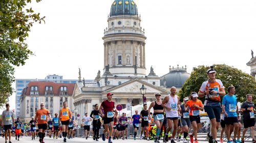
[[[103,119],[104,122],[104,130],[102,133],[102,140],[105,141],[105,133],[109,132],[109,143],[112,143],[111,141],[111,136],[113,133],[113,123],[114,123],[114,113],[113,111],[117,112],[116,110],[114,110],[115,108],[115,102],[113,102],[112,99],[112,93],[108,93],[106,94],[106,97],[108,99],[106,99],[105,101],[103,101],[99,107],[99,113]],[[101,109],[103,108],[104,110],[104,114],[102,113]],[[110,128],[109,128],[110,125]],[[110,130],[110,131],[109,131]]]

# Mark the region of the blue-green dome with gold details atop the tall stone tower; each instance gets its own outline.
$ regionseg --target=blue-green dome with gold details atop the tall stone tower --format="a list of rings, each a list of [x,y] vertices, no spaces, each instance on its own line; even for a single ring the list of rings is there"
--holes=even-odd
[[[138,8],[132,0],[115,0],[111,6],[110,16],[138,15]]]

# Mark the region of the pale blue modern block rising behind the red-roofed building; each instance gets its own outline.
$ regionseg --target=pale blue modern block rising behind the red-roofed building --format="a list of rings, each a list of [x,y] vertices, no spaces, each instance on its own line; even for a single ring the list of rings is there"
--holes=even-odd
[[[15,107],[15,117],[20,116],[20,95],[22,95],[22,91],[27,87],[30,81],[53,81],[55,83],[76,83],[78,79],[63,79],[61,75],[47,75],[44,79],[16,79],[16,107]]]

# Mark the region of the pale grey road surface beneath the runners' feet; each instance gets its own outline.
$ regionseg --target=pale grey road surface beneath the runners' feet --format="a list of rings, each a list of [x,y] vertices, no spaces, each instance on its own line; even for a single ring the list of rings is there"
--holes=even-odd
[[[198,142],[199,143],[207,143],[208,141],[205,140],[206,137],[203,137],[203,136],[199,136],[198,137]],[[18,140],[15,140],[15,137],[12,137],[11,139],[12,143],[34,143],[34,142],[37,142],[39,143],[39,138],[35,138],[35,140],[31,140],[31,137],[20,137],[19,138],[19,141]],[[62,143],[63,142],[63,137],[62,138],[58,138],[58,139],[53,139],[53,138],[49,138],[49,137],[45,137],[44,138],[44,141],[45,143]],[[140,140],[139,138],[134,140],[132,138],[128,138],[128,139],[125,139],[125,140],[122,140],[122,139],[115,139],[115,140],[112,140],[113,143],[136,143],[136,142],[148,142],[148,143],[154,143],[154,140]],[[0,137],[0,142],[1,143],[4,143],[5,142],[5,139],[3,137]],[[72,138],[72,139],[68,139],[67,138],[67,143],[71,143],[71,142],[97,142],[97,143],[108,143],[107,142],[107,139],[106,141],[102,141],[101,138],[99,138],[99,141],[95,141],[93,140],[92,138],[81,138],[81,137],[75,137],[75,138]],[[163,142],[163,140],[161,139],[160,142]],[[170,142],[170,141],[168,141]],[[182,143],[182,141],[176,141],[176,143]],[[218,140],[219,142],[219,140]],[[226,141],[225,141],[226,142]],[[247,142],[247,141],[246,141]]]

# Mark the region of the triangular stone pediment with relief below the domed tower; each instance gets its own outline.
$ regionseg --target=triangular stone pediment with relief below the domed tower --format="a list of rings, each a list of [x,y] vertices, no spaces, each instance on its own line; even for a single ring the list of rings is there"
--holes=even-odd
[[[128,81],[127,83],[125,82],[123,84],[118,85],[115,88],[109,89],[106,92],[140,94],[140,88],[142,87],[142,84],[144,84],[144,86],[146,87],[146,93],[167,93],[167,91],[139,79]]]

